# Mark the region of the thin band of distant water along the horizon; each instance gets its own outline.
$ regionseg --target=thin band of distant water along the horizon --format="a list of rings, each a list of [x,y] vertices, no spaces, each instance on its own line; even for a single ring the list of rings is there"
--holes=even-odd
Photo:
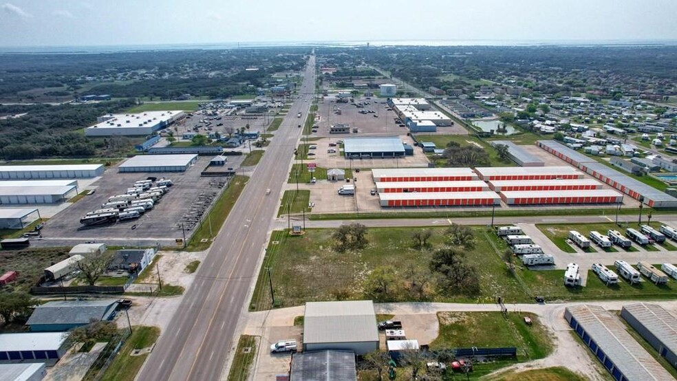
[[[393,40],[393,41],[287,41],[242,43],[186,43],[158,45],[0,46],[0,53],[89,54],[155,50],[226,50],[265,47],[355,46],[674,46],[677,40],[638,41],[511,41],[511,40]]]

